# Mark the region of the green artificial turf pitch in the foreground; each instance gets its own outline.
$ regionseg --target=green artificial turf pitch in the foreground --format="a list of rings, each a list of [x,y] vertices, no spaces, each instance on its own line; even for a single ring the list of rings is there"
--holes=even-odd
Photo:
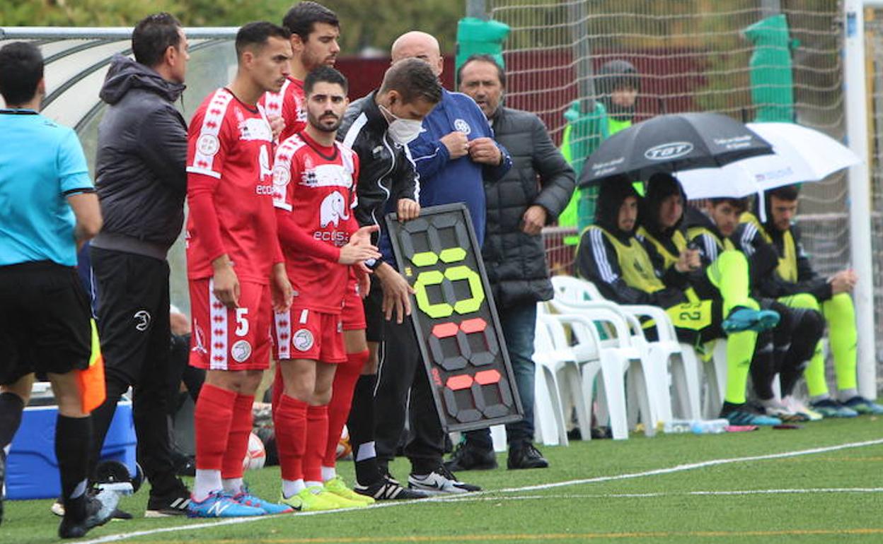
[[[739,460],[839,444],[858,447]],[[633,434],[627,441],[542,448],[544,470],[459,473],[487,493],[384,503],[247,523],[143,519],[147,491],[121,507],[136,516],[94,529],[85,540],[249,544],[383,542],[880,542],[883,541],[883,420],[862,417],[726,435]],[[714,462],[716,461],[716,462]],[[698,463],[708,463],[696,466]],[[351,481],[351,463],[339,466]],[[659,471],[647,473],[648,471]],[[407,478],[408,464],[392,472]],[[246,474],[253,491],[278,495],[277,467]],[[588,481],[586,481],[588,480]],[[549,484],[563,483],[548,487]],[[535,488],[532,488],[535,487]],[[729,492],[721,494],[721,492]],[[50,501],[7,501],[0,542],[57,540]],[[159,528],[190,528],[155,533]],[[192,525],[207,525],[194,529]]]

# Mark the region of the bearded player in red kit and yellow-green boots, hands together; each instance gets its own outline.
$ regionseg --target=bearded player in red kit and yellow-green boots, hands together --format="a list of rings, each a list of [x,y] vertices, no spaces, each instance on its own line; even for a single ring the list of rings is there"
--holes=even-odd
[[[273,169],[279,236],[295,291],[291,309],[275,315],[283,380],[275,384],[281,394],[274,419],[283,453],[282,502],[297,510],[330,510],[367,503],[329,492],[321,464],[336,366],[347,361],[341,310],[350,265],[379,253],[370,245],[377,227],[359,230],[352,213],[358,155],[335,141],[349,103],[346,78],[322,66],[307,75],[304,90],[306,128],[278,147]],[[361,277],[366,284],[366,272]]]

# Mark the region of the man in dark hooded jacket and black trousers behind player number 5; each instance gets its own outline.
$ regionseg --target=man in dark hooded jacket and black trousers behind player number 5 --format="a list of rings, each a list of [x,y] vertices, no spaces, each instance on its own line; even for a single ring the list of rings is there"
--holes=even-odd
[[[115,56],[101,98],[96,188],[104,228],[92,242],[101,300],[107,400],[93,415],[97,461],[117,400],[131,385],[138,460],[151,483],[145,516],[185,514],[190,493],[170,458],[169,264],[184,222],[187,125],[174,101],[184,91],[187,40],[168,13],[132,33],[133,62]]]

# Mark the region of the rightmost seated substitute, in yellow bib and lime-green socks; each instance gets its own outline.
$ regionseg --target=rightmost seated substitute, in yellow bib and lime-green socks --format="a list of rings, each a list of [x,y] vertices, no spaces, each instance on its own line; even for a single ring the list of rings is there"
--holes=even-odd
[[[829,278],[812,269],[800,242],[800,230],[793,223],[797,212],[796,185],[766,193],[765,223],[751,214],[742,221],[756,228],[758,235],[776,250],[778,265],[774,274],[759,284],[765,296],[792,307],[822,312],[828,324],[828,338],[834,354],[837,398],[832,399],[825,381],[825,359],[819,348],[804,376],[811,407],[826,417],[854,417],[857,414],[883,414],[883,406],[858,394],[856,380],[856,311],[849,294],[858,278],[852,270],[843,270]]]

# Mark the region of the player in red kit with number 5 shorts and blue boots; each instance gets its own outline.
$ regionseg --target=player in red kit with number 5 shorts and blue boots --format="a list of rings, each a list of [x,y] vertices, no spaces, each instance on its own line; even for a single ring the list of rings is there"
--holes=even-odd
[[[239,29],[236,51],[236,77],[202,102],[187,138],[191,364],[207,370],[194,414],[188,514],[201,518],[291,511],[252,496],[242,482],[273,310],[291,305],[272,203],[272,131],[258,106],[288,76],[289,32],[249,23]]]

